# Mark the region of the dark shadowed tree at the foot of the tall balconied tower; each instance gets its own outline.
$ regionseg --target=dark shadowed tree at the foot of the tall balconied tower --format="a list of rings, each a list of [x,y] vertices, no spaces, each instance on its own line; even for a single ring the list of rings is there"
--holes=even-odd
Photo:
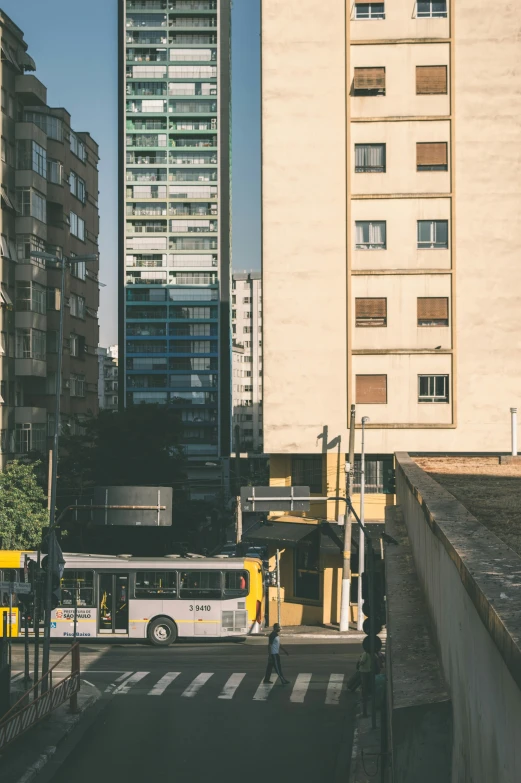
[[[60,438],[59,500],[93,486],[176,486],[183,479],[179,414],[160,405],[100,411],[85,435]]]

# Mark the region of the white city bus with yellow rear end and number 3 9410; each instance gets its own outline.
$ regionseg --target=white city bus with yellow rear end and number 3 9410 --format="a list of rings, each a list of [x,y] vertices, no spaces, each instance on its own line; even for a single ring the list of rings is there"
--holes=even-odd
[[[168,645],[182,637],[260,630],[260,560],[67,553],[64,559],[60,603],[51,618],[53,637],[148,639]],[[23,560],[20,553],[20,568]],[[23,622],[18,631],[23,634]]]

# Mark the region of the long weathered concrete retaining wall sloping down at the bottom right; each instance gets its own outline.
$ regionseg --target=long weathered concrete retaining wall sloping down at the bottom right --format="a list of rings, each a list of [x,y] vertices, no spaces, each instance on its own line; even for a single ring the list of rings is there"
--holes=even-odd
[[[405,453],[398,503],[453,704],[453,783],[521,780],[521,558]]]

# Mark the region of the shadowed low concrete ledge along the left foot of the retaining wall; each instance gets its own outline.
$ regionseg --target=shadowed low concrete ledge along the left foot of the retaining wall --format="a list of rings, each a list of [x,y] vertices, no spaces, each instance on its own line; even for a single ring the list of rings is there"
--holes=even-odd
[[[450,783],[452,703],[399,507],[386,510],[388,711],[393,780]]]

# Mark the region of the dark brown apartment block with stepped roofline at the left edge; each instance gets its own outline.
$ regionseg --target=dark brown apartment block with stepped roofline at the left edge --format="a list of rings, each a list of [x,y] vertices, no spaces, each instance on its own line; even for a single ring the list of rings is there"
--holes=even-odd
[[[0,11],[0,467],[45,455],[54,430],[61,271],[32,255],[98,252],[98,145],[73,131],[32,74],[23,32]],[[61,423],[98,410],[98,263],[66,268]]]

